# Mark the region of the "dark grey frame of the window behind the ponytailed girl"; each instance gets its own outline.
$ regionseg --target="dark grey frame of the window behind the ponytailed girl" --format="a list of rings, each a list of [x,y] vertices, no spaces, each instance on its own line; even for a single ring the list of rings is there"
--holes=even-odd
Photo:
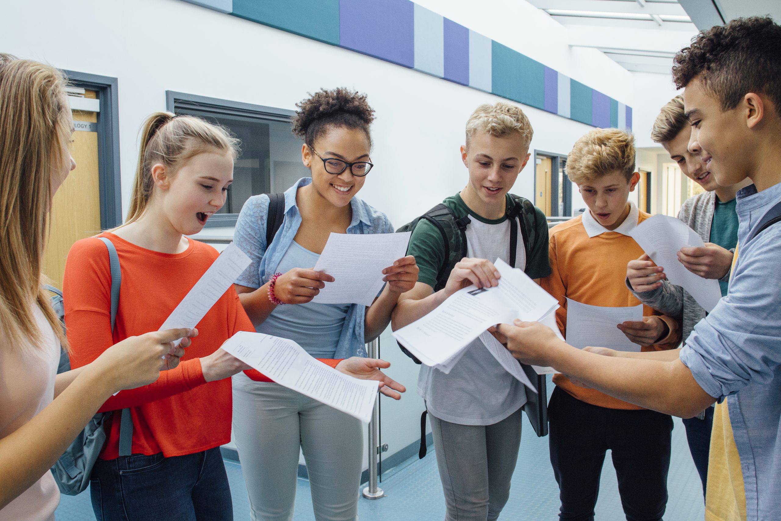
[[[276,121],[290,123],[294,110],[278,109],[265,105],[234,102],[227,99],[187,94],[186,92],[166,91],[166,109],[177,113],[177,109],[198,110],[213,116],[239,116],[242,119],[258,121]],[[216,213],[209,217],[204,228],[230,228],[236,226],[239,214]]]

